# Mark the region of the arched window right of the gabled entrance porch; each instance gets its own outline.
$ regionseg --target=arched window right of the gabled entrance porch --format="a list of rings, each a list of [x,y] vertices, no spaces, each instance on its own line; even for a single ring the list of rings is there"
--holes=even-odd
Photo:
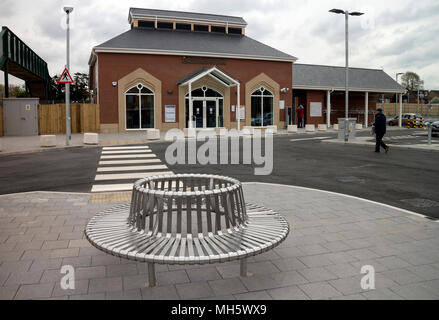
[[[253,127],[273,125],[273,94],[264,87],[251,95],[251,125]]]

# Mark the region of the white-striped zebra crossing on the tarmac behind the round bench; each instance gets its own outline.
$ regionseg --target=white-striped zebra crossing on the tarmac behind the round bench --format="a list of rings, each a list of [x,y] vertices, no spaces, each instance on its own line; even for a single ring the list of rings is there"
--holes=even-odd
[[[173,174],[148,146],[104,147],[92,193],[130,191],[141,178]]]

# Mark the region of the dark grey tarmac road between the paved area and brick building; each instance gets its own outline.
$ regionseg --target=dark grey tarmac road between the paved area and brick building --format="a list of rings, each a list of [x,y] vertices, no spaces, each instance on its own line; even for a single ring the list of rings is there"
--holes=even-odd
[[[407,132],[389,133],[397,135]],[[318,137],[333,138],[334,134],[276,137],[274,169],[269,176],[255,176],[251,165],[168,166],[175,173],[213,173],[243,182],[333,191],[439,219],[438,152],[393,148],[388,155],[376,154],[371,147],[322,143]],[[150,148],[165,162],[168,145],[152,143]],[[100,154],[101,148],[76,148],[0,156],[0,194],[90,192]]]

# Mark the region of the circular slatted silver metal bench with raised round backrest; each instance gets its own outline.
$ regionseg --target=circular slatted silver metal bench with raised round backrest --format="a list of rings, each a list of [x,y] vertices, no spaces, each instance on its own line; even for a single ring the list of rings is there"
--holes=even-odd
[[[154,264],[205,264],[241,261],[279,245],[288,222],[276,212],[245,204],[238,180],[178,174],[154,176],[134,184],[131,204],[105,210],[88,223],[85,234],[109,254]]]

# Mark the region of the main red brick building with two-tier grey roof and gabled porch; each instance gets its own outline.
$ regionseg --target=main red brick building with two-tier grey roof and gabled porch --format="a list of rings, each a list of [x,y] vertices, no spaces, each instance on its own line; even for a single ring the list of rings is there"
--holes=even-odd
[[[285,127],[297,59],[245,35],[240,17],[131,8],[131,29],[93,48],[102,132]],[[191,121],[192,120],[192,121]]]

